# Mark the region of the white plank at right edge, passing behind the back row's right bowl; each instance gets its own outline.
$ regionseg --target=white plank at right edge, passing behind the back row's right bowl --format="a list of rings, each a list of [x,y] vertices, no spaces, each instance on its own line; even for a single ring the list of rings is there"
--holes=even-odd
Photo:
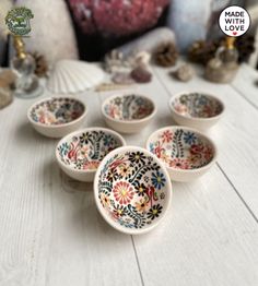
[[[166,86],[167,97],[181,91],[204,91],[224,102],[223,119],[207,133],[219,146],[219,164],[258,217],[258,126],[254,123],[258,121],[257,109],[227,84],[210,83],[200,75],[185,84],[173,80],[164,69],[156,68],[155,72]],[[246,86],[246,94],[249,88]]]

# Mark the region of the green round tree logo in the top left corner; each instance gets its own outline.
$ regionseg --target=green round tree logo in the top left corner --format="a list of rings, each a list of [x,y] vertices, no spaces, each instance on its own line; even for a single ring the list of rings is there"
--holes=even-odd
[[[15,7],[8,12],[5,24],[15,36],[25,36],[31,32],[30,20],[33,17],[34,15],[30,9]]]

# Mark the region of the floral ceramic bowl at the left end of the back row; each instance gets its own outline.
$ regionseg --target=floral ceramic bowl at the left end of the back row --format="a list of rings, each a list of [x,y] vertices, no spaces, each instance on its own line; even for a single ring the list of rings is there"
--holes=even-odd
[[[85,105],[72,97],[46,98],[34,104],[27,111],[34,129],[49,138],[62,138],[79,129],[85,116]]]

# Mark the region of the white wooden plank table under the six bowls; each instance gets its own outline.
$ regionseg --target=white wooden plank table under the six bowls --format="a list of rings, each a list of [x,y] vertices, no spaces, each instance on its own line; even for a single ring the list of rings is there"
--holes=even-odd
[[[92,184],[60,171],[58,141],[27,123],[38,98],[15,99],[0,110],[1,286],[258,285],[258,73],[243,65],[228,85],[153,73],[151,84],[131,90],[152,97],[157,116],[127,143],[144,146],[152,131],[174,124],[173,94],[209,91],[226,105],[208,132],[219,146],[216,165],[195,182],[173,182],[172,208],[153,231],[122,235],[99,216]],[[85,127],[105,126],[99,106],[109,94],[79,95],[89,106]]]

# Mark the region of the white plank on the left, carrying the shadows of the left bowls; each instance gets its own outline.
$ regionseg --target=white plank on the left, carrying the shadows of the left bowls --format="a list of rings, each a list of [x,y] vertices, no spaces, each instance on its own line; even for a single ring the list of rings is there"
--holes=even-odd
[[[97,95],[82,97],[86,126],[98,126]],[[140,285],[131,238],[101,218],[92,184],[77,191],[60,172],[57,140],[26,122],[32,102],[0,114],[0,285]]]

